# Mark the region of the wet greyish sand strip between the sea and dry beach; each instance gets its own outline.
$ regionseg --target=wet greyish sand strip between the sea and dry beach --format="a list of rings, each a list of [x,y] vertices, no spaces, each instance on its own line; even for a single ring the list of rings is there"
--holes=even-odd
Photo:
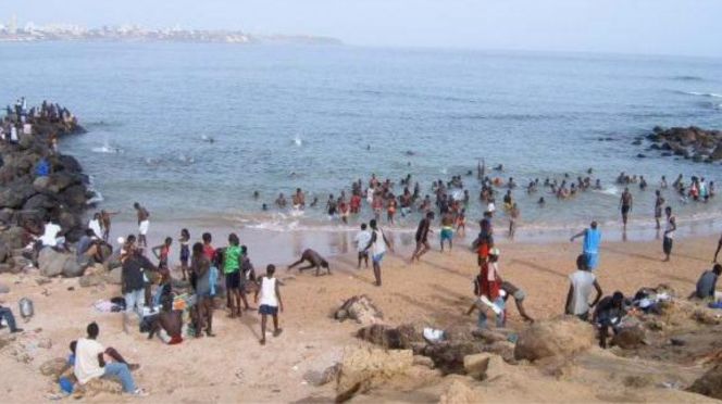
[[[582,229],[578,227],[559,227],[555,229],[524,227],[522,223],[516,230],[515,238],[509,239],[507,236],[508,220],[506,218],[495,219],[495,241],[503,247],[524,245],[555,245],[569,243],[569,238]],[[404,256],[410,255],[415,247],[415,228],[386,227],[382,223],[382,229],[390,236],[398,253]],[[337,226],[335,228],[326,227],[314,229],[306,227],[301,229],[259,229],[246,226],[241,223],[233,223],[224,217],[206,217],[151,222],[148,233],[149,247],[160,244],[165,237],[172,237],[174,244],[172,247],[171,263],[177,264],[177,238],[182,228],[187,228],[191,235],[191,242],[200,240],[202,232],[213,235],[213,245],[223,247],[227,242],[227,236],[236,232],[241,244],[249,249],[250,256],[257,268],[265,264],[289,264],[296,261],[303,250],[310,248],[318,251],[321,255],[328,257],[344,256],[356,252],[353,237],[359,231],[356,226]],[[431,235],[430,243],[433,251],[438,251],[439,230],[434,224],[434,233]],[[684,242],[693,240],[717,240],[719,231],[722,229],[722,218],[720,219],[700,219],[686,220],[679,225],[675,233],[677,240]],[[661,251],[661,230],[655,229],[652,222],[637,226],[634,220],[631,222],[630,229],[624,232],[620,226],[606,227],[601,225],[602,247],[608,243],[659,243]],[[468,223],[464,237],[455,237],[455,250],[468,251],[471,243],[476,238],[478,225]],[[113,223],[111,231],[111,243],[116,244],[119,237],[137,233],[135,223],[127,220],[117,220]]]

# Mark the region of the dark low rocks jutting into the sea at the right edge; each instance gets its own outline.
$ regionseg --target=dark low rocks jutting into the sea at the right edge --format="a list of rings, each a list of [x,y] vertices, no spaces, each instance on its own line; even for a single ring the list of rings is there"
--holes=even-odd
[[[722,160],[722,131],[706,130],[696,126],[672,127],[656,126],[647,135],[651,150],[661,151],[663,156],[681,156],[697,163],[712,163]]]

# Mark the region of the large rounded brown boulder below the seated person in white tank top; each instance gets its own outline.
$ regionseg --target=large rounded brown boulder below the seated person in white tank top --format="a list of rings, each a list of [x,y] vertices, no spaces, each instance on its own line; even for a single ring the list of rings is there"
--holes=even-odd
[[[537,321],[519,333],[514,348],[516,361],[537,361],[551,356],[571,356],[595,344],[594,327],[573,316]]]

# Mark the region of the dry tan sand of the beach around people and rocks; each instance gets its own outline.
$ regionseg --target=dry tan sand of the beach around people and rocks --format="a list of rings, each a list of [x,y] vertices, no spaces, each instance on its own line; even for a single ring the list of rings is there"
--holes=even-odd
[[[681,239],[672,262],[661,263],[659,241],[605,242],[597,272],[599,282],[606,294],[614,290],[631,294],[643,286],[668,283],[681,295],[686,295],[700,272],[710,266],[715,247],[715,237]],[[525,305],[532,316],[544,319],[562,313],[567,276],[573,272],[580,250],[578,243],[569,242],[508,242],[501,245],[501,272],[505,278],[526,291]],[[57,391],[57,384],[40,375],[38,367],[49,358],[66,356],[69,342],[83,337],[85,326],[95,320],[100,325],[99,339],[105,346],[114,346],[128,361],[142,365],[135,376],[150,396],[138,400],[100,394],[91,400],[329,402],[336,394],[334,383],[314,387],[307,381],[308,375],[323,371],[340,361],[346,346],[366,344],[353,337],[359,325],[332,318],[332,313],[346,299],[369,295],[389,325],[423,323],[447,329],[474,324],[474,317],[462,313],[472,300],[471,279],[477,270],[471,252],[460,245],[451,253],[432,251],[420,264],[410,265],[407,260],[407,251],[399,249],[385,261],[383,288],[372,285],[371,269],[356,268],[353,253],[338,255],[332,261],[332,276],[287,272],[284,264],[288,262],[276,262],[282,266],[278,275],[285,283],[282,293],[286,311],[281,315],[284,332],[278,338],[270,338],[265,346],[258,343],[260,321],[256,313],[246,313],[240,320],[232,320],[226,318],[225,311],[216,311],[216,338],[166,346],[159,340],[146,340],[146,334],[124,333],[119,314],[95,311],[91,305],[95,301],[120,295],[117,286],[80,288],[77,279],[62,278],[39,286],[36,282],[39,276],[3,274],[0,282],[10,287],[10,293],[1,299],[9,306],[16,311],[16,302],[23,296],[35,302],[35,317],[29,323],[21,321],[25,333],[29,334],[26,338],[49,338],[52,345],[49,349],[35,346],[33,359],[27,363],[18,362],[12,352],[4,350],[0,366],[12,371],[3,373],[0,388],[9,402],[43,401],[49,393]],[[509,313],[511,328],[525,327],[513,307]],[[590,355],[607,357],[612,354],[594,349]],[[675,368],[680,365],[637,362],[637,366]],[[545,376],[531,365],[513,368],[501,382],[473,382],[485,392],[485,402],[708,400],[658,386],[631,391],[609,369],[589,370],[589,367],[582,366],[582,370],[572,377],[559,379]],[[685,369],[679,374],[692,378],[683,380],[686,382],[692,382],[694,376],[701,373],[699,366]],[[436,402],[455,378],[461,377],[438,377],[423,388],[414,387],[413,393],[382,390],[354,400]]]

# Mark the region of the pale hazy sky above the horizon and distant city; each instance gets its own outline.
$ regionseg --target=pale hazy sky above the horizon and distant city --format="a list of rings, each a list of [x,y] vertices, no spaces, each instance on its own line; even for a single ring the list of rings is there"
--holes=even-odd
[[[363,46],[722,56],[722,0],[0,0],[0,18],[234,28]]]

